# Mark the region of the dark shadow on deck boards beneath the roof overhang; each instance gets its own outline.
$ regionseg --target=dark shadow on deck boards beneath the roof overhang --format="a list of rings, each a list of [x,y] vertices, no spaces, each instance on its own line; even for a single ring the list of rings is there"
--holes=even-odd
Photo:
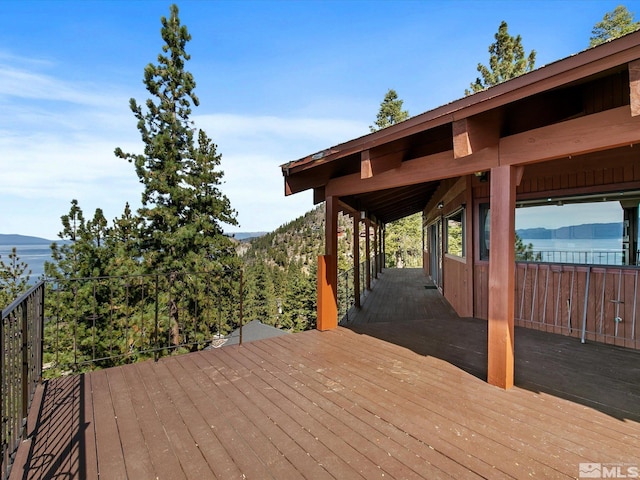
[[[487,377],[487,324],[460,318],[420,269],[388,269],[351,330],[445,360]],[[515,327],[515,384],[640,421],[640,351]]]

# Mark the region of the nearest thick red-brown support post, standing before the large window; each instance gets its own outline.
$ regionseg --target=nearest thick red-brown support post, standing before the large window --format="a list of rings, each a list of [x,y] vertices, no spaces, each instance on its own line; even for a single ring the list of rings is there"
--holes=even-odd
[[[487,382],[513,386],[516,168],[491,169]]]

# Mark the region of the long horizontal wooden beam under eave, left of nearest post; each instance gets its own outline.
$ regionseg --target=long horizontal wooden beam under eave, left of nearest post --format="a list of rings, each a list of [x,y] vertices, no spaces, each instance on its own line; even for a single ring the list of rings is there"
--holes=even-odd
[[[449,150],[406,160],[400,167],[371,178],[362,179],[360,174],[356,173],[331,179],[326,186],[326,193],[336,196],[356,195],[469,175],[497,165],[497,148],[485,148],[460,159],[453,158],[453,150]]]

